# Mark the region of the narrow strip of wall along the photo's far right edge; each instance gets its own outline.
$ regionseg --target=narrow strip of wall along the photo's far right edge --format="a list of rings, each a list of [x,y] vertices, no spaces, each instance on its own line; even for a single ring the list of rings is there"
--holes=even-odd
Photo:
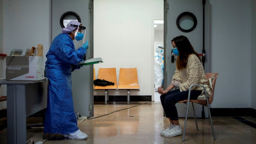
[[[256,109],[256,0],[252,0],[251,107]]]

